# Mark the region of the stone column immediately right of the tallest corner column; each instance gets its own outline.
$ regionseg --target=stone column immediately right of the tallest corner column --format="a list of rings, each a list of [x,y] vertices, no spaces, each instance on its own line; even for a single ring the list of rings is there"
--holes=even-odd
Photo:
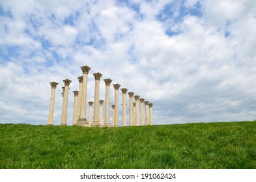
[[[95,78],[95,90],[94,90],[94,109],[93,109],[93,122],[92,126],[100,126],[100,120],[98,118],[100,110],[100,78],[102,77],[101,73],[93,73]]]

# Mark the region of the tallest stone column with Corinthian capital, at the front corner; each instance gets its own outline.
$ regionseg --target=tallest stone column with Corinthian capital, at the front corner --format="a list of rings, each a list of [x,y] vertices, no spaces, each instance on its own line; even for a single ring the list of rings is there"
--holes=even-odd
[[[81,66],[81,70],[83,72],[83,83],[82,83],[82,99],[81,99],[81,110],[79,120],[77,125],[88,126],[88,122],[86,120],[86,105],[87,105],[87,79],[88,73],[91,70],[89,66]]]

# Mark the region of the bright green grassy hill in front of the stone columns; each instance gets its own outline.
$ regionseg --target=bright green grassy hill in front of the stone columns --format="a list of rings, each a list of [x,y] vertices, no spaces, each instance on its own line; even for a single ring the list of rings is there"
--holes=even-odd
[[[256,168],[256,122],[0,124],[0,168]]]

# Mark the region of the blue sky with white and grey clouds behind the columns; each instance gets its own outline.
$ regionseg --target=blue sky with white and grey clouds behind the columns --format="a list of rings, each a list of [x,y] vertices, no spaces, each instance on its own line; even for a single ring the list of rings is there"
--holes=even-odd
[[[255,32],[255,0],[0,0],[0,123],[46,125],[55,81],[60,125],[70,79],[72,125],[85,65],[87,101],[100,72],[100,99],[110,78],[111,104],[119,83],[153,103],[154,124],[255,120]]]

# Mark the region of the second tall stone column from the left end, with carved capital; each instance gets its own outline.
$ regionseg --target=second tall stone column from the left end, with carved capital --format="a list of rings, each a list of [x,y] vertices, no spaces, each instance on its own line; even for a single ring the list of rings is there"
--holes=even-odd
[[[63,80],[65,88],[64,88],[64,97],[63,97],[63,112],[61,114],[61,125],[66,125],[66,116],[68,114],[68,90],[69,85],[72,82],[69,79]]]

